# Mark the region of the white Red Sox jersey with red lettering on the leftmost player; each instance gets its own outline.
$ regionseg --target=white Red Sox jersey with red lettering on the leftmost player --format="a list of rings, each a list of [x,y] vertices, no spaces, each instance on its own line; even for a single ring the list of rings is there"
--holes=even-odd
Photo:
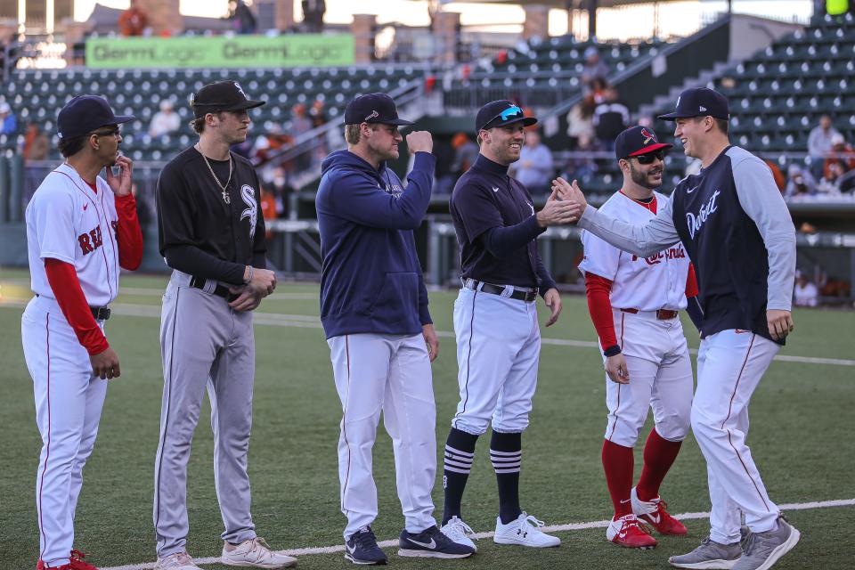
[[[27,206],[31,288],[55,298],[45,259],[74,265],[90,306],[106,306],[118,293],[118,214],[116,197],[100,176],[97,192],[63,164],[45,177]],[[70,207],[69,207],[70,205]]]

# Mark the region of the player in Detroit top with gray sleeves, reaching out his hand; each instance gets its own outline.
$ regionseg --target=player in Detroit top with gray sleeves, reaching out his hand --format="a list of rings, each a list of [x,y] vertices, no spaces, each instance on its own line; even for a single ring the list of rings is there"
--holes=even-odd
[[[799,541],[781,516],[745,444],[748,404],[763,372],[793,330],[795,230],[784,199],[761,159],[728,139],[729,106],[707,88],[680,94],[676,121],[684,152],[699,174],[677,185],[646,224],[626,224],[587,206],[578,185],[553,187],[574,202],[582,228],[636,256],[682,241],[695,265],[704,311],[691,426],[707,464],[710,536],[679,568],[771,567]],[[740,546],[740,513],[751,533]]]

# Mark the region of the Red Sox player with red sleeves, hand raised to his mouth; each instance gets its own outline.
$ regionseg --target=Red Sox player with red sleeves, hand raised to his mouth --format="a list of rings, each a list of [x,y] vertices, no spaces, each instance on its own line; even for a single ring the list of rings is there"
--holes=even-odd
[[[72,550],[74,516],[107,380],[121,374],[104,336],[108,305],[118,295],[119,267],[134,270],[142,261],[133,165],[118,153],[119,125],[133,118],[114,115],[102,97],[69,101],[57,118],[65,162],[45,177],[27,206],[36,297],[21,317],[20,336],[42,436],[37,570],[95,570]]]

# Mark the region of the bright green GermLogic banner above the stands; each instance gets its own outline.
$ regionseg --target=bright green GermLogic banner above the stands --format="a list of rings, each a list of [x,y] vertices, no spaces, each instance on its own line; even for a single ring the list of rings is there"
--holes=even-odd
[[[354,37],[350,34],[86,40],[86,67],[93,69],[293,68],[353,63]]]

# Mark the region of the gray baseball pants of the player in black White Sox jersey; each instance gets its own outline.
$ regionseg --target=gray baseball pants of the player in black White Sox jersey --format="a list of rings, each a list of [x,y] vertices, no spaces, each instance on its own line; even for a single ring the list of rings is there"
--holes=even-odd
[[[247,475],[255,377],[252,313],[233,311],[214,295],[216,281],[207,281],[205,289],[191,288],[190,281],[187,273],[172,273],[160,316],[164,383],[154,466],[159,558],[186,550],[187,461],[206,387],[222,538],[240,543],[256,537]]]

